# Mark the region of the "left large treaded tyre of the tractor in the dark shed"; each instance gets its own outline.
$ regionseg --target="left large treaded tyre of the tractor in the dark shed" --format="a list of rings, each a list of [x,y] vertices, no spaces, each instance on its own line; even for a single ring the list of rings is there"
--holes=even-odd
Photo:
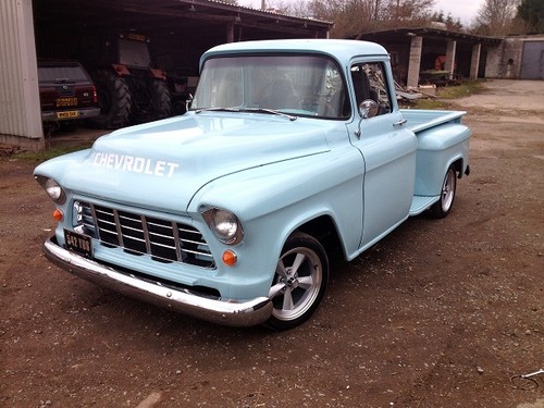
[[[120,128],[129,124],[132,96],[126,82],[111,70],[99,70],[92,75],[97,87],[100,115],[91,120],[99,128]]]

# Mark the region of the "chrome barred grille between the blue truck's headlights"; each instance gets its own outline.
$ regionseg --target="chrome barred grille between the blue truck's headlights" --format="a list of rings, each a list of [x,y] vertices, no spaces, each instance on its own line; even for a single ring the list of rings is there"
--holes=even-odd
[[[75,209],[85,233],[106,246],[158,262],[215,267],[205,238],[190,225],[89,202],[76,202]]]

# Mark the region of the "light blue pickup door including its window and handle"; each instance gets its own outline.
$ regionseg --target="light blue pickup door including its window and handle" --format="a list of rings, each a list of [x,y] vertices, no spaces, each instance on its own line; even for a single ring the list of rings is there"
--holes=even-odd
[[[356,112],[348,131],[366,166],[361,248],[372,245],[408,217],[413,195],[417,139],[406,129],[391,78],[390,65],[384,61],[366,60],[350,67],[348,81]],[[357,108],[362,101],[373,107],[367,118]]]

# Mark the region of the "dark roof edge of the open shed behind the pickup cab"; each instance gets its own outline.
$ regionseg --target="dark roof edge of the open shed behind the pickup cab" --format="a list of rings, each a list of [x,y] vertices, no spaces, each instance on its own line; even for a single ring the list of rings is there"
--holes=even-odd
[[[213,25],[234,24],[245,29],[292,33],[300,37],[325,37],[333,23],[261,11],[217,0],[34,0],[38,24],[62,27],[115,27],[139,30],[158,21],[162,27],[206,35]]]

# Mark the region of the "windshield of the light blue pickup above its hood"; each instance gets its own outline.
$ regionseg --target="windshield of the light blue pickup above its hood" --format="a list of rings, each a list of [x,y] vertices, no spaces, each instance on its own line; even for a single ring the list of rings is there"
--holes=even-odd
[[[299,54],[206,61],[191,109],[277,110],[330,119],[349,115],[336,64],[325,57]]]

